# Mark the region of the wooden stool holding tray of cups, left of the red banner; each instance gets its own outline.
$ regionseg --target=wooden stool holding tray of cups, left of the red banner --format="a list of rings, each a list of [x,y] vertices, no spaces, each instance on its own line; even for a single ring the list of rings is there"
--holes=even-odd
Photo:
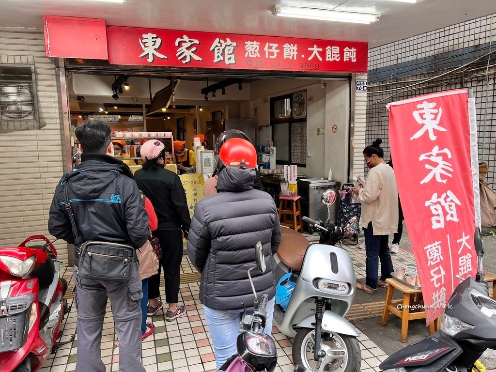
[[[389,284],[389,287],[387,287],[381,325],[384,326],[387,324],[389,312],[401,318],[401,342],[406,342],[408,337],[408,322],[414,319],[426,318],[426,312],[421,309],[424,305],[422,291],[409,287],[394,278],[386,279],[386,283]],[[395,288],[403,293],[403,300],[392,301]],[[401,307],[398,307],[398,305],[401,305]],[[431,335],[434,332],[435,325],[432,323],[429,325],[429,334]]]

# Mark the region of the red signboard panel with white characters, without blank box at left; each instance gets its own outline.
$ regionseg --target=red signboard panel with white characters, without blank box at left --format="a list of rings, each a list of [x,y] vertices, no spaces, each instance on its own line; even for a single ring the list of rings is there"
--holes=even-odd
[[[107,27],[111,64],[367,72],[367,43]]]

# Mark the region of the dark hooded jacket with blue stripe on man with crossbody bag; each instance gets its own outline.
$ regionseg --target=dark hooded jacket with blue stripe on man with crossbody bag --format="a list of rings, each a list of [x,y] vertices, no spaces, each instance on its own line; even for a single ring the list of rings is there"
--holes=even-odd
[[[95,153],[81,154],[80,173],[55,188],[48,231],[75,245],[65,211],[64,187],[68,188],[79,243],[89,240],[128,244],[141,248],[148,238],[148,215],[132,173],[121,160]],[[69,172],[68,174],[70,174]],[[75,259],[78,262],[76,247]]]

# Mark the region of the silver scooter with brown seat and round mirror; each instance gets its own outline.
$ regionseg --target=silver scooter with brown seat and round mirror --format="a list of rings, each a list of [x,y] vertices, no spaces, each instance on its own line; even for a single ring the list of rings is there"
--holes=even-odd
[[[329,216],[335,199],[333,190],[322,194]],[[320,241],[309,245],[303,234],[282,229],[281,245],[274,255],[276,282],[292,273],[289,280],[296,286],[287,307],[274,307],[273,321],[282,333],[295,338],[295,365],[314,372],[358,372],[362,360],[359,333],[345,319],[355,295],[355,270],[349,253],[335,246],[343,238],[343,229],[329,220],[303,220],[314,227]]]

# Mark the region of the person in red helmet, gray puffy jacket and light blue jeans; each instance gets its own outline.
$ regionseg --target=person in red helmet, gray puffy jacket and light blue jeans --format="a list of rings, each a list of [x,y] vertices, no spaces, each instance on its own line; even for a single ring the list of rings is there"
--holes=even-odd
[[[201,272],[200,301],[210,329],[217,370],[236,354],[243,302],[253,307],[248,269],[255,265],[255,245],[262,242],[267,270],[252,272],[257,296],[269,295],[270,334],[274,310],[275,276],[272,256],[281,242],[279,215],[271,196],[253,188],[256,150],[243,138],[228,139],[219,151],[218,193],[195,207],[187,252]]]

